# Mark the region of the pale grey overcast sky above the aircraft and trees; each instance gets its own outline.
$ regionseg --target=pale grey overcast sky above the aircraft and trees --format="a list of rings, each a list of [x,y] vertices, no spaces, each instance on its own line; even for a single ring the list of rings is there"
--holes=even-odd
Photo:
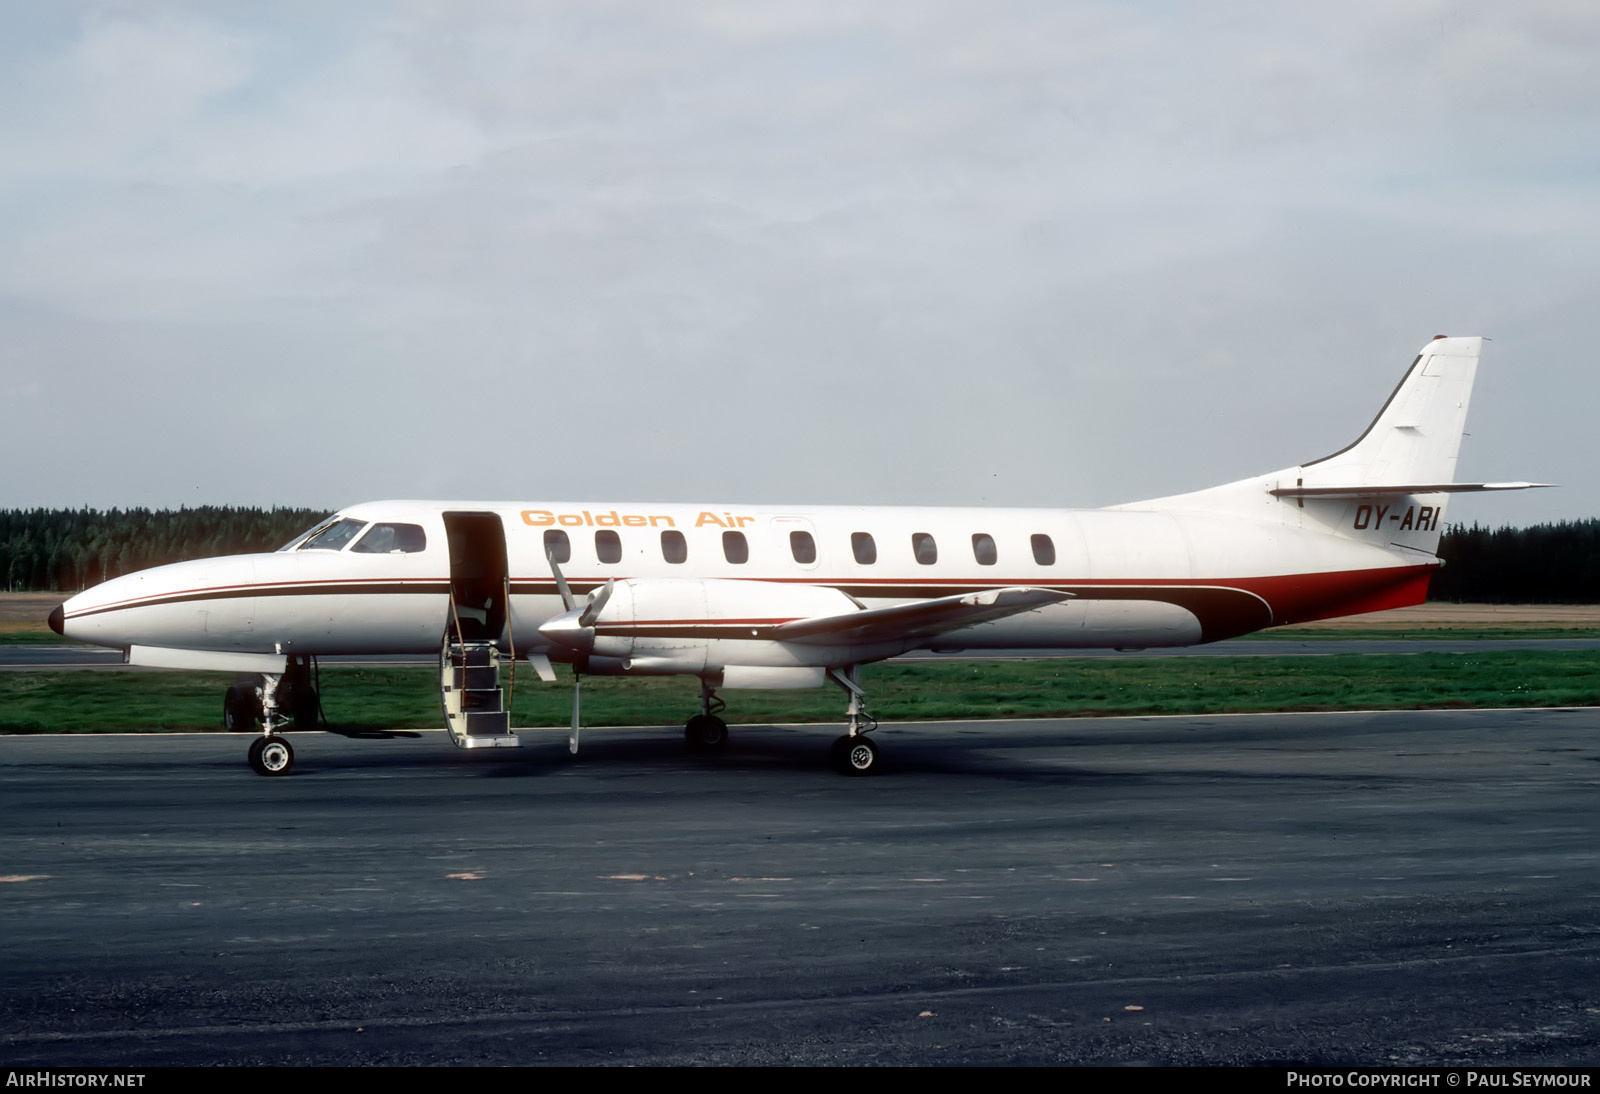
[[[1490,344],[1600,515],[1600,6],[69,3],[0,35],[0,507],[1106,505]]]

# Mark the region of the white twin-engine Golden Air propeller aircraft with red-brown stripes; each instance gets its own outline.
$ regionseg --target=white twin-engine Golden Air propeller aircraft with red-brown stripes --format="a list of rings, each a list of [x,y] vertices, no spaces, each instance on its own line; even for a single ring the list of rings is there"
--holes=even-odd
[[[286,774],[278,729],[315,725],[315,657],[440,656],[451,739],[515,745],[501,665],[848,696],[838,766],[878,766],[862,664],[910,649],[1189,646],[1421,603],[1456,483],[1480,337],[1438,336],[1373,424],[1299,467],[1110,509],[781,509],[653,502],[371,502],[266,555],[157,566],[58,608],[58,633],[131,665],[251,673],[232,728]],[[578,750],[578,691],[571,750]]]

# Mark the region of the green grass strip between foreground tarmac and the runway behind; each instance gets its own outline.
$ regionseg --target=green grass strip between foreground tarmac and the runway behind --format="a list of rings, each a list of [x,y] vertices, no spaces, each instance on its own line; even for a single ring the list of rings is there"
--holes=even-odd
[[[517,675],[515,726],[565,726],[571,675],[557,685]],[[0,673],[0,733],[221,733],[227,673]],[[325,669],[323,712],[346,731],[438,728],[437,670]],[[1422,710],[1600,705],[1600,654],[1333,654],[1323,657],[1080,659],[982,664],[877,664],[862,670],[883,721],[1070,718],[1264,710]],[[586,677],[584,723],[672,726],[698,710],[693,678]],[[837,688],[730,691],[739,723],[838,723]]]

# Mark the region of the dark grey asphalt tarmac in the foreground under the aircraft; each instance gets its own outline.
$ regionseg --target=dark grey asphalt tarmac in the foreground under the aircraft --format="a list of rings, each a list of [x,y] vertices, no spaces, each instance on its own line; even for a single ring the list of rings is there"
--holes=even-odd
[[[0,1062],[1595,1064],[1600,710],[0,739]]]

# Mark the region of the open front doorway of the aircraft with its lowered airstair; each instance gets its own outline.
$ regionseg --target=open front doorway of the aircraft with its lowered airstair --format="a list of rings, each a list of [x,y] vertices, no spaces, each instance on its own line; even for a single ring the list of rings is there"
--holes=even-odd
[[[443,513],[450,539],[450,616],[438,651],[445,728],[459,749],[515,749],[499,683],[507,622],[506,528],[498,513]]]

